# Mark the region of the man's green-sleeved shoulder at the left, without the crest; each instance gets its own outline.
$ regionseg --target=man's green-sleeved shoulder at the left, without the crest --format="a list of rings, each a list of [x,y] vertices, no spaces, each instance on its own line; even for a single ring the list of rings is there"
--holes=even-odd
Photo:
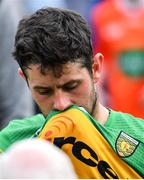
[[[29,118],[12,120],[0,131],[0,150],[5,151],[12,143],[30,138],[43,126],[45,118],[38,114]]]

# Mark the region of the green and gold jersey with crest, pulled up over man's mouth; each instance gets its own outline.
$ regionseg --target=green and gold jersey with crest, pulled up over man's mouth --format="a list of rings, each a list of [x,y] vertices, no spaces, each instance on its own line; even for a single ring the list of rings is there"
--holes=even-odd
[[[0,133],[2,151],[14,141],[37,136],[64,150],[79,178],[144,177],[143,120],[111,110],[102,126],[77,106],[62,112],[52,111],[46,119],[38,115],[29,119],[30,122],[25,119],[23,123],[10,123]]]

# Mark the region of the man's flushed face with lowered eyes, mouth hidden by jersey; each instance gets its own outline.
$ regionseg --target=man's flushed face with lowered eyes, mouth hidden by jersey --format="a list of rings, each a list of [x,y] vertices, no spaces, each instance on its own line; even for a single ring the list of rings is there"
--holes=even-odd
[[[71,105],[84,107],[92,114],[96,102],[93,78],[79,63],[63,65],[63,73],[56,77],[48,70],[41,74],[38,65],[27,69],[28,84],[40,110],[47,116],[51,110],[64,110]]]

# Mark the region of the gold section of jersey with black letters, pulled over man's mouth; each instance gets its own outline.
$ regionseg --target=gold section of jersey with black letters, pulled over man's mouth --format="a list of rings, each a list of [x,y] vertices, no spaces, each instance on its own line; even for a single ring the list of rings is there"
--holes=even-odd
[[[141,178],[120,159],[88,116],[79,109],[69,109],[51,117],[38,137],[63,149],[79,178]]]

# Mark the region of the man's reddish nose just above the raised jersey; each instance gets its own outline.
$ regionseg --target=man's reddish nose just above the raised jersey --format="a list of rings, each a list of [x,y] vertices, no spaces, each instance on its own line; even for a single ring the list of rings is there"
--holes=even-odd
[[[72,105],[70,98],[63,92],[59,92],[54,98],[54,109],[55,110],[65,110]]]

